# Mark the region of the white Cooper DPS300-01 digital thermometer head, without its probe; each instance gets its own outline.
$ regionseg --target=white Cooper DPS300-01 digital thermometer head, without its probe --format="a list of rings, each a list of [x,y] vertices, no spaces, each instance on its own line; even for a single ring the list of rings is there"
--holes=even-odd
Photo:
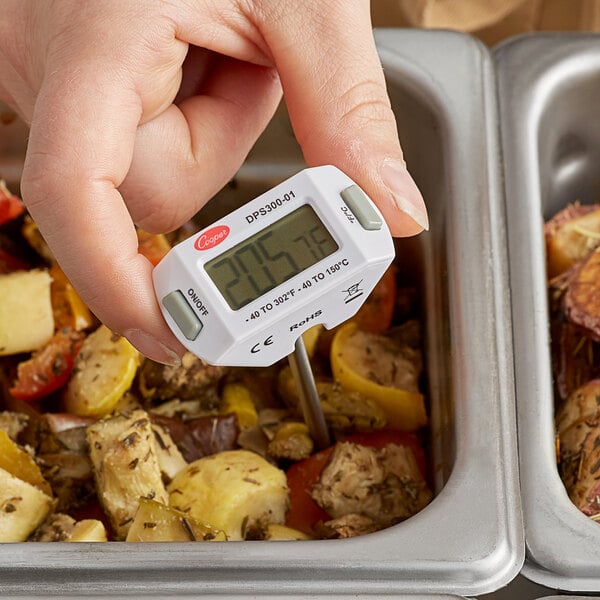
[[[209,364],[269,366],[352,317],[394,258],[377,207],[333,166],[301,171],[175,246],[154,268],[163,315]]]

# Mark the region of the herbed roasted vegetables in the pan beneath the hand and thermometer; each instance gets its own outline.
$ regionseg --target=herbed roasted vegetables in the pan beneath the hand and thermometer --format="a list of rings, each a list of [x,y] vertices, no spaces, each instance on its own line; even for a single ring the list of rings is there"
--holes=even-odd
[[[138,237],[153,264],[170,248]],[[333,440],[321,450],[286,361],[140,356],[5,186],[0,297],[2,542],[344,538],[432,498],[417,297],[394,268],[350,323],[305,334]]]

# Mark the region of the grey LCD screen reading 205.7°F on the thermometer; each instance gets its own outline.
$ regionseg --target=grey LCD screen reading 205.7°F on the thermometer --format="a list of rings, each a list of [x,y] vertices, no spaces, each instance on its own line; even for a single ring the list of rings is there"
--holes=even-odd
[[[308,269],[339,246],[304,204],[204,265],[232,310]]]

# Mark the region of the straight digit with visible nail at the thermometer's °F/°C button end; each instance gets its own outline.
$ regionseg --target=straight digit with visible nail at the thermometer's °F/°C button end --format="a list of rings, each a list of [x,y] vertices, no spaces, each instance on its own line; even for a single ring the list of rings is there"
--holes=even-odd
[[[306,162],[345,171],[377,203],[393,235],[427,229],[425,203],[403,160],[369,3],[332,2],[323,11],[322,2],[313,2],[309,15],[274,6],[264,35]]]

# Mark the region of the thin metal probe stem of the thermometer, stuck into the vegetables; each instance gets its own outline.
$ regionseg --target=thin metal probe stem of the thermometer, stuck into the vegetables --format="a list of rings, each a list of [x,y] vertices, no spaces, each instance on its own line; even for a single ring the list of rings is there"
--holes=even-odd
[[[304,421],[315,442],[315,447],[317,450],[327,448],[330,445],[329,431],[302,336],[296,340],[294,352],[288,356],[288,361],[300,395]]]

